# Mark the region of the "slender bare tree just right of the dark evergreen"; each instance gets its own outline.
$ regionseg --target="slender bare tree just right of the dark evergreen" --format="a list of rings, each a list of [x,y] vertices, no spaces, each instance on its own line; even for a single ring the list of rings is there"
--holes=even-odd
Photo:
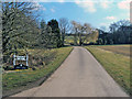
[[[66,32],[68,32],[70,30],[69,29],[69,22],[66,18],[59,19],[59,30],[61,30],[61,33],[62,33],[62,45],[64,46]]]

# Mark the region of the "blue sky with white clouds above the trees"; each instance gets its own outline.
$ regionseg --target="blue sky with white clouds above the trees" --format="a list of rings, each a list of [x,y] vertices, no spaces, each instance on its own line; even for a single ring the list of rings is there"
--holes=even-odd
[[[41,18],[48,22],[52,19],[67,18],[69,21],[90,23],[94,28],[108,30],[119,20],[130,20],[131,0],[56,0],[37,1],[35,6]],[[103,28],[105,29],[105,28]]]

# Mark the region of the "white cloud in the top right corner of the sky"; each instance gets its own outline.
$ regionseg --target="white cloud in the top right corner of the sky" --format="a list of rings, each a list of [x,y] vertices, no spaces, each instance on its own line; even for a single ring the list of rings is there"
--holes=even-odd
[[[120,1],[119,3],[118,3],[118,8],[119,9],[130,9],[130,2],[131,2],[131,0],[123,0],[123,1]]]

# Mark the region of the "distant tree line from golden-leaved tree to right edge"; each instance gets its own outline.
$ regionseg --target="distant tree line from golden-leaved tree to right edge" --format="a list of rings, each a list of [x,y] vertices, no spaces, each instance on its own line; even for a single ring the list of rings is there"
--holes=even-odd
[[[73,45],[132,44],[132,24],[129,20],[110,24],[108,32],[105,29],[94,29],[88,23],[73,21],[72,24],[72,33],[66,35],[74,36]]]

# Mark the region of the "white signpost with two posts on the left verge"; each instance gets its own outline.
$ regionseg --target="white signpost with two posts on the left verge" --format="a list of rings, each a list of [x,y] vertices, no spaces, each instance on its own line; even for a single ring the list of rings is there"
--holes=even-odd
[[[26,56],[16,56],[15,54],[13,55],[13,66],[16,65],[16,61],[23,61],[26,62],[26,66],[29,66],[28,61],[29,61],[29,56],[26,54]],[[22,66],[22,64],[20,65]]]

